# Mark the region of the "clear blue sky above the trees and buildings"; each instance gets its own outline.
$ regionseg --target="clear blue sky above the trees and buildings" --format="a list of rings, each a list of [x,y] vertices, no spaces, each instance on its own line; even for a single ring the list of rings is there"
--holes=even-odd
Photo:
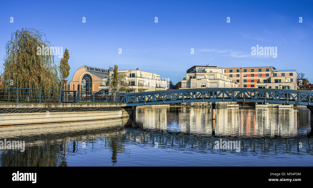
[[[312,1],[2,1],[0,65],[10,34],[26,27],[69,50],[69,81],[82,65],[116,64],[175,84],[186,69],[208,64],[295,69],[313,82],[312,8]],[[277,47],[277,58],[252,56],[257,44]]]

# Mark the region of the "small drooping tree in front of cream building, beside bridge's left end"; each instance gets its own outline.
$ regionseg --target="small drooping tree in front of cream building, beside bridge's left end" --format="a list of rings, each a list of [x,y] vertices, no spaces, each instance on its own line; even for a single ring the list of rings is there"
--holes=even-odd
[[[129,89],[127,76],[129,75],[130,71],[126,73],[118,73],[117,69],[118,66],[114,65],[114,74],[109,78],[109,90],[111,92],[126,93],[126,91]]]

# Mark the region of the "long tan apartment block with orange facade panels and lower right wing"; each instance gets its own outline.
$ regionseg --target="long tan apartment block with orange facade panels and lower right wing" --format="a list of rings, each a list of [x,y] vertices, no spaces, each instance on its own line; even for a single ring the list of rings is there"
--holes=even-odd
[[[289,77],[289,81],[297,87],[297,72],[295,70],[276,70],[273,66],[267,67],[237,67],[223,68],[224,74],[232,78],[239,87],[256,87],[258,81],[262,82],[263,77]],[[278,79],[278,78],[276,78]],[[274,79],[275,80],[275,79]]]

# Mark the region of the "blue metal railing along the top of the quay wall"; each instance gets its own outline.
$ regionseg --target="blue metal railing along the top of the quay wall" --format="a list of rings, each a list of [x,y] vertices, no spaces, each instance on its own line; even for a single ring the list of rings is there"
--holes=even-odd
[[[122,102],[124,93],[0,87],[0,102]]]

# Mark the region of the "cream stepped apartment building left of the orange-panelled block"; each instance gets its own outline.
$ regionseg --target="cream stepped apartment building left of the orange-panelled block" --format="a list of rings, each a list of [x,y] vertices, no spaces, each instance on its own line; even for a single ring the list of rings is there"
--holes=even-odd
[[[233,78],[224,74],[225,70],[218,66],[195,65],[187,69],[186,77],[182,80],[182,87],[187,88],[212,88],[212,87],[239,87]]]

